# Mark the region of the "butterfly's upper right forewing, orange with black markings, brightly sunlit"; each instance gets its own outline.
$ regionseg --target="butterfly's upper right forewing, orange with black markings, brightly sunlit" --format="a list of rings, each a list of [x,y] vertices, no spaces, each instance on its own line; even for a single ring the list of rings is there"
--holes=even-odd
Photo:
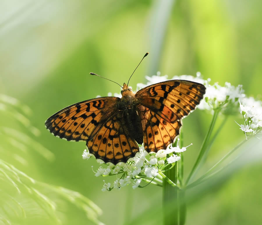
[[[187,80],[169,80],[147,86],[136,93],[140,104],[155,111],[168,122],[174,122],[195,109],[206,88]]]

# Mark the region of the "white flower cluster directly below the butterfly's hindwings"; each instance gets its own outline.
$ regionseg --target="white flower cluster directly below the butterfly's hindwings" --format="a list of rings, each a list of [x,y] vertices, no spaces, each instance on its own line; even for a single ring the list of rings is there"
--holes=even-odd
[[[135,189],[140,186],[142,180],[146,183],[153,182],[162,185],[162,177],[160,174],[163,171],[171,169],[175,163],[180,160],[180,153],[184,152],[187,147],[180,149],[177,142],[176,147],[170,144],[167,149],[161,149],[157,153],[147,153],[142,146],[135,157],[128,160],[127,163],[120,162],[117,165],[104,163],[100,165],[94,173],[97,177],[112,175],[116,175],[117,177],[112,185],[109,182],[106,183],[104,180],[102,191],[121,189],[121,187],[129,184]],[[83,159],[89,159],[91,155],[88,150],[84,150],[82,157]]]

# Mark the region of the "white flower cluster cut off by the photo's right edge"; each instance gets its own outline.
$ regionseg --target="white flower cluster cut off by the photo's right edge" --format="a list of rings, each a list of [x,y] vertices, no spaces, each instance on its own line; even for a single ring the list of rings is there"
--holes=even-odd
[[[240,126],[240,130],[244,131],[247,139],[247,133],[250,135],[256,135],[261,131],[262,102],[256,101],[252,97],[243,98],[241,101],[239,101],[240,113],[243,116],[244,124],[237,124]]]

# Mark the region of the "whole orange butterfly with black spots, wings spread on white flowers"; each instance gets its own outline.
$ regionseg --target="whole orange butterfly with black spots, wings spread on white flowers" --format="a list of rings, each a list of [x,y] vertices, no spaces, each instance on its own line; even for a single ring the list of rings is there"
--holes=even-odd
[[[160,82],[135,94],[124,83],[122,98],[73,104],[49,117],[45,126],[56,137],[86,141],[97,159],[127,162],[139,151],[137,143],[144,142],[147,152],[166,149],[179,134],[181,118],[195,109],[205,92],[203,84],[186,80]]]

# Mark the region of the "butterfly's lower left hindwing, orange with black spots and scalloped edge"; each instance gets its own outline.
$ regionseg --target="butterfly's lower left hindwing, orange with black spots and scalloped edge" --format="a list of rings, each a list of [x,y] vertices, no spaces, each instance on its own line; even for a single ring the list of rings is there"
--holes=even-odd
[[[123,111],[108,119],[86,143],[90,153],[106,162],[127,162],[139,151],[139,147],[128,132]]]

